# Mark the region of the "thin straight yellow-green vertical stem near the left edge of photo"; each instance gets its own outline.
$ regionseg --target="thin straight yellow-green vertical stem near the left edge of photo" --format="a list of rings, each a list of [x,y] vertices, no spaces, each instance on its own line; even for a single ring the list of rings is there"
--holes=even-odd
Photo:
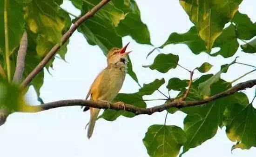
[[[7,66],[7,78],[11,82],[11,64],[9,56],[9,38],[8,38],[8,7],[9,0],[4,1],[4,26],[5,26],[5,57],[6,57],[6,66]]]

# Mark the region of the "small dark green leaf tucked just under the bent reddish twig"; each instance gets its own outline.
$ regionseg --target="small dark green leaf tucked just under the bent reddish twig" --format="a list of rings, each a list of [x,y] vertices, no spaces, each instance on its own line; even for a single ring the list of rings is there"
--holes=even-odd
[[[166,88],[170,90],[175,90],[175,91],[181,91],[182,89],[186,88],[188,86],[188,79],[179,79],[179,78],[172,78],[169,79],[168,85]]]

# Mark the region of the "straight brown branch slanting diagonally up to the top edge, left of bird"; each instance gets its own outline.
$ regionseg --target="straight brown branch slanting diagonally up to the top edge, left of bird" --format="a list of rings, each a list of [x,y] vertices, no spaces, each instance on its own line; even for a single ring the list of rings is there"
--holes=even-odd
[[[61,38],[61,45],[63,45],[74,33],[74,31],[87,19],[92,17],[101,7],[107,4],[110,0],[101,0],[92,10],[88,11],[85,15],[79,18],[74,25],[63,35]],[[50,59],[55,55],[55,53],[60,49],[61,45],[56,44],[50,52],[47,53],[44,59],[34,68],[32,72],[27,76],[27,78],[21,83],[22,87],[26,87],[32,79],[44,68],[44,66],[49,62]]]

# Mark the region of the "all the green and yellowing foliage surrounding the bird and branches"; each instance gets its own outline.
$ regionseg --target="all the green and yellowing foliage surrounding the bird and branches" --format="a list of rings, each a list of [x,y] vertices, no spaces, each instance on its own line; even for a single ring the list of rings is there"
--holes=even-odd
[[[81,15],[83,15],[101,0],[70,1],[74,7],[81,10]],[[189,31],[186,33],[171,33],[162,46],[154,50],[164,49],[170,44],[186,44],[194,54],[206,52],[212,57],[221,55],[229,58],[234,56],[241,46],[243,52],[253,55],[256,53],[256,23],[253,23],[246,14],[238,11],[242,1],[179,0],[181,7],[195,26],[188,28]],[[60,7],[62,3],[63,0],[0,1],[0,36],[2,39],[0,40],[0,111],[4,109],[5,115],[16,111],[40,111],[40,107],[26,104],[23,96],[27,87],[23,89],[19,85],[13,85],[10,80],[7,80],[6,74],[13,78],[18,48],[24,31],[28,34],[28,48],[22,79],[28,76],[55,44],[61,44],[64,33],[72,23],[80,18],[76,17],[71,20],[68,13]],[[5,9],[7,12],[4,12]],[[135,0],[108,2],[93,17],[81,24],[78,32],[84,36],[88,44],[99,46],[104,55],[107,55],[112,47],[122,47],[126,44],[122,43],[122,37],[127,35],[139,44],[152,46],[148,27],[141,21],[141,13]],[[240,45],[238,42],[240,40],[245,44]],[[57,52],[62,59],[65,59],[67,45],[68,41]],[[216,47],[220,50],[212,53],[212,49]],[[179,59],[179,55],[160,53],[151,65],[143,67],[167,73],[179,65]],[[52,66],[53,61],[54,59],[51,59],[47,63],[46,69]],[[175,98],[170,98],[159,90],[165,84],[164,79],[155,79],[151,83],[140,86],[135,93],[119,93],[113,102],[121,101],[146,108],[143,97],[152,95],[154,92],[160,92],[167,97],[164,98],[166,102],[173,99],[197,101],[207,99],[232,87],[233,82],[221,79],[221,75],[228,72],[229,66],[236,64],[236,60],[220,65],[220,70],[216,74],[202,75],[202,73],[210,72],[212,65],[208,62],[201,64],[199,67],[194,67],[192,71],[185,69],[190,74],[193,74],[195,70],[200,72],[197,79],[168,78],[166,92],[178,91],[179,94]],[[128,74],[136,83],[139,82],[133,72],[130,59]],[[41,100],[39,91],[43,79],[44,73],[41,71],[30,83],[34,86],[39,100]],[[184,97],[185,93],[188,95]],[[243,92],[236,92],[203,105],[181,109],[169,108],[167,111],[172,114],[176,111],[186,113],[187,116],[183,121],[184,128],[165,124],[150,126],[143,138],[143,143],[151,157],[176,157],[182,146],[182,154],[184,154],[190,148],[195,148],[214,137],[218,128],[223,126],[226,126],[227,137],[236,142],[232,149],[250,149],[256,146],[256,128],[253,125],[256,109],[252,106],[252,102],[249,103]],[[128,111],[105,110],[99,118],[114,121],[120,116],[132,118],[135,114]]]

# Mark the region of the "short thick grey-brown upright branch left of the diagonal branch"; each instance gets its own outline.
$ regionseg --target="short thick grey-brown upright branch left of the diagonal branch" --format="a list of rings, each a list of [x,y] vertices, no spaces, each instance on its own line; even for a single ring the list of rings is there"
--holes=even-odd
[[[20,48],[17,56],[16,69],[13,76],[13,83],[20,83],[25,66],[25,56],[27,53],[27,32],[24,31],[23,36],[20,41]]]

